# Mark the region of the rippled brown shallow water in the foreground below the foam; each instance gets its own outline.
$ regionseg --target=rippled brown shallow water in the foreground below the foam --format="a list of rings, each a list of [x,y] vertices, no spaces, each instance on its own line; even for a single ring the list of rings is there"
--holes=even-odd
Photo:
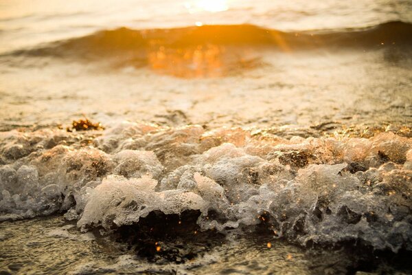
[[[343,274],[358,265],[345,250],[306,251],[265,234],[228,234],[207,254],[176,264],[153,263],[124,243],[81,234],[62,217],[3,222],[0,228],[2,274]],[[378,268],[408,274],[381,259]]]

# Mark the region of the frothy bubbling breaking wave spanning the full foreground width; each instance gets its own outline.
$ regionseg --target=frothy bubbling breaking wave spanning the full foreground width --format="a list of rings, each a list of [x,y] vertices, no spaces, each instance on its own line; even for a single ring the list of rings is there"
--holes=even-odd
[[[412,250],[412,139],[291,137],[124,122],[0,134],[0,219],[64,212],[114,232],[153,212],[201,230],[264,225],[299,245]],[[184,222],[184,221],[183,221]]]

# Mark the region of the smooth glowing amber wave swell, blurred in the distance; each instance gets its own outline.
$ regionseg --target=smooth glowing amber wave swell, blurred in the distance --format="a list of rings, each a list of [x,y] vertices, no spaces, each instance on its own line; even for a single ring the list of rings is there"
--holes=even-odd
[[[265,45],[278,50],[308,50],[319,47],[411,46],[412,24],[391,21],[363,29],[329,32],[282,32],[255,25],[203,25],[172,29],[102,30],[88,36],[56,41],[41,47],[14,51],[12,55],[102,56],[136,54],[150,47],[183,48],[196,45]],[[140,51],[141,52],[141,51]]]

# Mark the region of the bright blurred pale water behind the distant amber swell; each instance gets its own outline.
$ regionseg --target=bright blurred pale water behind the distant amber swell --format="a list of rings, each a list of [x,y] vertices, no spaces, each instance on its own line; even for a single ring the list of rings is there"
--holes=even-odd
[[[125,0],[0,1],[1,52],[96,30],[243,24],[265,28],[342,30],[412,21],[409,0]]]

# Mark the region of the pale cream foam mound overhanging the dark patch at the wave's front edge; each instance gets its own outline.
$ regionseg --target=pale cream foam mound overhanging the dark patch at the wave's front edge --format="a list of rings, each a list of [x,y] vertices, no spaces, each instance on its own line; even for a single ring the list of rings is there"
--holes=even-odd
[[[184,210],[201,210],[203,199],[181,190],[155,192],[157,181],[148,176],[140,179],[108,177],[97,186],[84,208],[78,227],[102,226],[106,230],[120,225],[137,223],[140,217],[159,210],[165,214],[179,214]]]

